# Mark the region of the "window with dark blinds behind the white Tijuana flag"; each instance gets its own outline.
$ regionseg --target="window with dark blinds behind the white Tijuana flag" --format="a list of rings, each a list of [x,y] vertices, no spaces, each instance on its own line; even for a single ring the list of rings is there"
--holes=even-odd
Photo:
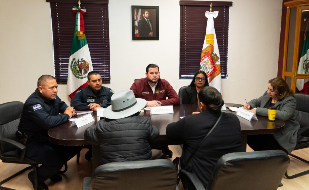
[[[193,78],[200,69],[201,51],[206,34],[210,1],[180,1],[180,64],[179,79]],[[227,78],[227,47],[229,12],[232,2],[212,2],[212,11],[219,11],[214,19],[220,52],[221,77]]]

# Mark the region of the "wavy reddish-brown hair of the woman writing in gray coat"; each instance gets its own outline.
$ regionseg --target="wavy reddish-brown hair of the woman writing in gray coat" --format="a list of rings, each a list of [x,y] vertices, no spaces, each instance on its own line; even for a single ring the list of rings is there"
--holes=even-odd
[[[278,100],[284,99],[288,96],[294,96],[294,92],[290,89],[289,85],[281,77],[270,79],[268,83],[273,87],[273,91]]]

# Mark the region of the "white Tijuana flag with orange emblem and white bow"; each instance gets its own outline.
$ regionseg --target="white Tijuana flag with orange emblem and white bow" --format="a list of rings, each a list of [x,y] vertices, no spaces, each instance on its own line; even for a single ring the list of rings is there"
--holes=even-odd
[[[216,32],[214,31],[214,18],[217,18],[218,11],[205,12],[207,18],[206,35],[201,53],[200,69],[205,71],[209,86],[215,87],[220,93],[221,88],[221,67],[220,53]]]

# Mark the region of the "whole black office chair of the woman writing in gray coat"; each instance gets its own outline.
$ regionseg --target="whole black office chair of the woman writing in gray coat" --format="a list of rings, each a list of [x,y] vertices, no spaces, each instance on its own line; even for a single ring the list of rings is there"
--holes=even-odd
[[[294,148],[294,150],[298,150],[309,147],[309,95],[297,93],[294,95],[294,98],[296,99],[296,121],[298,121],[298,123],[300,124],[300,129],[297,133],[297,144]],[[294,154],[289,155],[309,164],[308,160],[300,158]],[[306,174],[309,174],[309,170],[291,176],[289,176],[286,171],[285,176],[287,179],[293,179]]]

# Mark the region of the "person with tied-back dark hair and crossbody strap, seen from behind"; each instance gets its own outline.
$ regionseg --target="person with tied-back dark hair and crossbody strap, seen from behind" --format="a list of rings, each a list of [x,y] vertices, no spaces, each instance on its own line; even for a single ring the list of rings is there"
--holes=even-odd
[[[221,156],[243,151],[239,119],[232,113],[222,112],[216,127],[192,154],[219,119],[223,104],[222,95],[216,88],[202,87],[197,94],[197,105],[201,112],[193,112],[192,115],[168,124],[166,128],[167,138],[184,143],[182,167],[196,174],[205,188]]]

